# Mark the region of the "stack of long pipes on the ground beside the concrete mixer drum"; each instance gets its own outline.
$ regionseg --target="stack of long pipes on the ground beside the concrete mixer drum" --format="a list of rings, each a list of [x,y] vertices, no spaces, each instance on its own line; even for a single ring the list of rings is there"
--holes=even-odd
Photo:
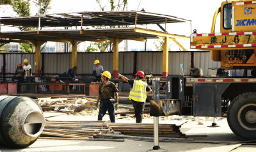
[[[97,133],[114,133],[105,121],[45,121],[39,139],[124,141],[124,139],[99,139]]]

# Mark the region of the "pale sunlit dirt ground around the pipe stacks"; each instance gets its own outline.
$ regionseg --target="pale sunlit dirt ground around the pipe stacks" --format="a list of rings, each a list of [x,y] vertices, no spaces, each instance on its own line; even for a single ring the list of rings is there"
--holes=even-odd
[[[97,120],[98,110],[86,109],[76,114],[61,114],[56,112],[44,112],[47,120],[73,120],[88,121]],[[103,118],[109,121],[109,116]],[[116,116],[116,123],[135,123],[133,115]],[[153,117],[144,114],[143,123],[154,123]],[[124,142],[106,141],[51,141],[37,140],[34,144],[24,149],[8,149],[0,147],[0,151],[256,151],[255,142],[243,141],[228,127],[226,118],[216,118],[220,127],[211,126],[212,118],[193,116],[166,116],[159,117],[159,123],[174,123],[182,125],[182,133],[186,133],[188,142],[159,142],[160,149],[153,150],[154,141],[140,141],[125,139]],[[201,124],[201,125],[199,125]],[[205,137],[193,137],[191,135],[204,135]]]

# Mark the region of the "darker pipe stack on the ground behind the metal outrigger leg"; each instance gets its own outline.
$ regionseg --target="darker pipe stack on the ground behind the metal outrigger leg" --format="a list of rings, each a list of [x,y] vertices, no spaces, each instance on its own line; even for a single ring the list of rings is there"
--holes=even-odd
[[[112,130],[124,135],[153,137],[154,124],[149,123],[108,123]],[[186,137],[180,132],[180,126],[159,124],[159,137]]]

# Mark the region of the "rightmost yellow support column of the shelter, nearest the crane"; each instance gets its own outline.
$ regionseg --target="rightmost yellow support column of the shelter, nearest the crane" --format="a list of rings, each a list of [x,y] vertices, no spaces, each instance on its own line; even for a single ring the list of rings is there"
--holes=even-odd
[[[169,38],[164,38],[164,45],[163,45],[163,77],[168,76],[168,57],[169,57]]]

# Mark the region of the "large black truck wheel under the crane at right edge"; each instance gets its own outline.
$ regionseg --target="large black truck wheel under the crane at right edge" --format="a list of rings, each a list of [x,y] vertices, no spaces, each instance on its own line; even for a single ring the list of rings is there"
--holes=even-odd
[[[227,114],[230,129],[244,139],[256,139],[256,93],[244,93],[232,100]]]

